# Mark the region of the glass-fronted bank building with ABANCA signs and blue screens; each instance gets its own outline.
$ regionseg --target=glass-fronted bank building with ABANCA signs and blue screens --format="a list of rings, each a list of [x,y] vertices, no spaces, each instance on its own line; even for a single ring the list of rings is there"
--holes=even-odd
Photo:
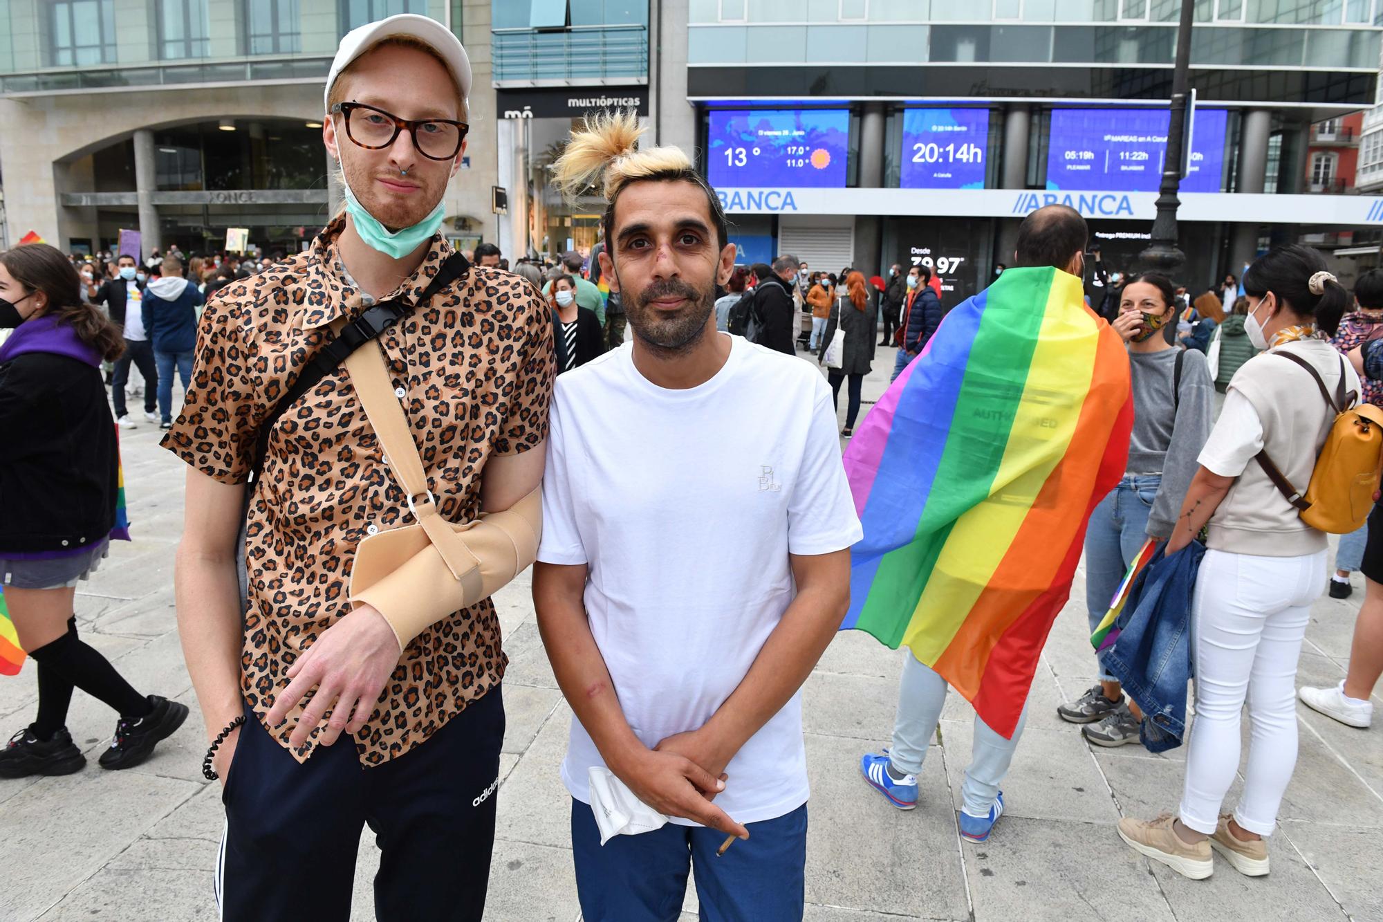
[[[1317,194],[1337,190],[1364,134],[1351,114],[1375,101],[1383,1],[1189,1],[1178,281],[1209,287],[1326,227],[1383,226],[1379,199]],[[956,303],[1011,262],[1019,219],[1057,201],[1124,269],[1155,215],[1180,7],[674,0],[661,15],[685,21],[686,58],[656,43],[657,132],[698,151],[751,259],[927,262]],[[1335,119],[1333,134],[1312,127]]]

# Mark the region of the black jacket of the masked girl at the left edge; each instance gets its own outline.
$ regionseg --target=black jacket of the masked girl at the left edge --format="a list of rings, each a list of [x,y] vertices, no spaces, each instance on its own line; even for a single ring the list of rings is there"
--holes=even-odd
[[[98,367],[50,352],[0,363],[0,557],[111,533],[119,475]]]

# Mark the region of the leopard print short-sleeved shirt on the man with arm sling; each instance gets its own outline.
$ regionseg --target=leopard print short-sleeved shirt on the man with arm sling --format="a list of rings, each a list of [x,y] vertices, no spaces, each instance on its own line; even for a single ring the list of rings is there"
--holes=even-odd
[[[335,222],[310,251],[212,298],[192,388],[163,447],[224,483],[248,479],[270,410],[331,339],[332,321],[364,310],[336,251],[342,227]],[[449,252],[434,238],[389,298],[415,300]],[[523,277],[473,266],[379,343],[441,515],[474,519],[485,461],[546,439],[552,311]],[[293,660],[349,611],[360,541],[411,518],[343,367],[279,417],[252,490],[241,684],[263,723]],[[427,739],[495,688],[505,665],[490,599],[434,623],[404,651],[355,735],[361,761],[382,764]],[[290,730],[285,721],[270,732],[289,748]],[[299,761],[319,731],[289,748]]]

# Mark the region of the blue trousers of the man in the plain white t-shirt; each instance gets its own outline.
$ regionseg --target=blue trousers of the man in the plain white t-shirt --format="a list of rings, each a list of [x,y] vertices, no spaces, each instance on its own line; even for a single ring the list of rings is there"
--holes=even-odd
[[[696,875],[705,922],[790,922],[806,903],[806,804],[745,824],[747,842],[715,853],[725,833],[668,824],[600,844],[591,806],[571,800],[571,851],[585,922],[676,922]]]

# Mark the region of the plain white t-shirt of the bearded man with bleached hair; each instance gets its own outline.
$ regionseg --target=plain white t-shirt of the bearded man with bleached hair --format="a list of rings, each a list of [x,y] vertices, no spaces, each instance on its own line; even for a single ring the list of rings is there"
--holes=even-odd
[[[589,565],[591,631],[646,746],[703,727],[750,671],[795,594],[790,554],[863,537],[835,425],[812,365],[740,336],[686,390],[639,374],[628,345],[557,378],[538,559]],[[603,764],[574,718],[567,790],[589,803]],[[726,772],[715,804],[740,822],[806,803],[799,694]]]

